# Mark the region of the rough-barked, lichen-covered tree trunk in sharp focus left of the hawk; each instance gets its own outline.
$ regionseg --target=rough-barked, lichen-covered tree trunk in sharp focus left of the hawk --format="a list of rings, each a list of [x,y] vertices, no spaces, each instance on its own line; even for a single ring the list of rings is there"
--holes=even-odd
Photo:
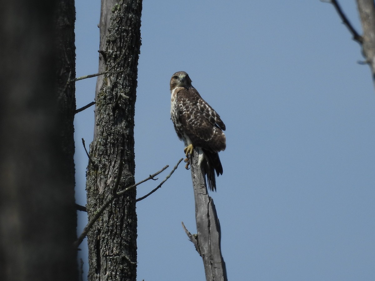
[[[141,0],[102,0],[95,129],[87,170],[89,220],[114,193],[133,185],[134,106],[141,46]],[[136,189],[105,209],[87,235],[89,280],[136,280]]]

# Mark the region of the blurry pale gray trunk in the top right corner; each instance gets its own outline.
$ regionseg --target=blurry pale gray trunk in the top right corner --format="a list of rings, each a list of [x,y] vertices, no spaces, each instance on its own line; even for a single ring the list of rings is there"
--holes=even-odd
[[[357,0],[362,23],[362,51],[370,66],[375,87],[375,4],[374,0]]]

